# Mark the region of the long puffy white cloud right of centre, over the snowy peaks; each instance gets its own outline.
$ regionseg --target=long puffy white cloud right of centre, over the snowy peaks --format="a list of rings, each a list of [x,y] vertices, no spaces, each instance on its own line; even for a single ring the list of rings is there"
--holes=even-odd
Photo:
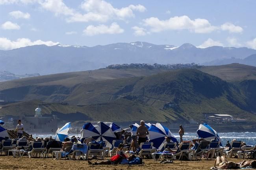
[[[152,32],[160,32],[165,30],[189,30],[195,33],[210,33],[217,29],[211,26],[206,19],[197,18],[191,20],[186,15],[181,17],[171,17],[168,20],[159,20],[156,17],[151,17],[143,20],[145,26],[151,27]]]

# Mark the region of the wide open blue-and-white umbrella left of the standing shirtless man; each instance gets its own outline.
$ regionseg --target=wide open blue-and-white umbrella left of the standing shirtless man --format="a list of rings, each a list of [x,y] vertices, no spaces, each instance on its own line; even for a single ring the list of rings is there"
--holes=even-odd
[[[108,147],[112,147],[113,140],[116,139],[112,129],[104,122],[89,122],[83,125],[81,130],[81,142],[87,137],[92,137],[96,141],[106,141]]]

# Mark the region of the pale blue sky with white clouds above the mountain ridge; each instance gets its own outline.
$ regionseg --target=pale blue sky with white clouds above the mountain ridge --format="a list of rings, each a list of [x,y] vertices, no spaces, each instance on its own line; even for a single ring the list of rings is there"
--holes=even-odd
[[[0,50],[145,41],[256,49],[255,0],[0,0]]]

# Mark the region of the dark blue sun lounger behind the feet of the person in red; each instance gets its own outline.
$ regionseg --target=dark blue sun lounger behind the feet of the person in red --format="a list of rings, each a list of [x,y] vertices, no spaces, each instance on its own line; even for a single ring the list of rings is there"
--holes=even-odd
[[[89,142],[86,160],[89,155],[99,156],[100,159],[104,159],[104,149],[100,142]]]

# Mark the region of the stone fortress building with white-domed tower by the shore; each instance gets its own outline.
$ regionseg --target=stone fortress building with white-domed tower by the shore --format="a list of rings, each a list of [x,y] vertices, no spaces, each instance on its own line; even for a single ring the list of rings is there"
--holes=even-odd
[[[24,131],[37,133],[52,133],[57,130],[57,116],[43,116],[41,108],[35,109],[35,116],[23,116],[21,122],[24,125]]]

